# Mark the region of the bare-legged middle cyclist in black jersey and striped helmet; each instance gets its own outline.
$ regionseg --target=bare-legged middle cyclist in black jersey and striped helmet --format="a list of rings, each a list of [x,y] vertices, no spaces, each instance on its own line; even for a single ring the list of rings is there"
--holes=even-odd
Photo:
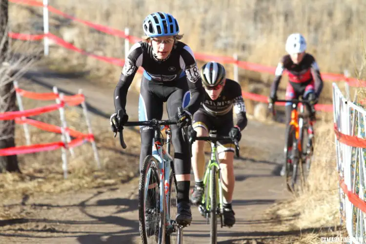
[[[205,89],[204,101],[194,114],[192,127],[197,136],[207,136],[209,130],[216,130],[219,136],[229,135],[240,141],[241,131],[247,124],[242,88],[236,81],[226,79],[225,68],[217,62],[208,62],[201,69],[201,78]],[[237,117],[234,125],[233,110]],[[224,188],[224,224],[235,224],[232,210],[234,191],[234,144],[218,142],[218,154]],[[192,167],[195,176],[195,187],[192,192],[192,203],[198,205],[203,197],[204,142],[195,141],[192,145]]]

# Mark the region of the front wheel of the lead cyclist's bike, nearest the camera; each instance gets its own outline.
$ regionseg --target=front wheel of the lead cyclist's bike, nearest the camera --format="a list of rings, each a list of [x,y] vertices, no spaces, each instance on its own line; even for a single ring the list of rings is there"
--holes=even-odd
[[[140,172],[139,222],[142,244],[163,244],[165,216],[160,212],[159,162],[146,156]]]

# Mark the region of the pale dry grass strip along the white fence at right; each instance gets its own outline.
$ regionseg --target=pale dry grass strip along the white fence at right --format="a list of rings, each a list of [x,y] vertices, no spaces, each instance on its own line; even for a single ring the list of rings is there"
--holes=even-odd
[[[281,228],[324,228],[320,233],[314,230],[310,236],[304,235],[310,239],[338,234],[329,233],[327,228],[337,226],[340,221],[333,127],[331,123],[319,123],[315,131],[316,144],[308,188],[293,199],[275,204],[267,212],[282,221]],[[288,220],[291,218],[294,219]]]

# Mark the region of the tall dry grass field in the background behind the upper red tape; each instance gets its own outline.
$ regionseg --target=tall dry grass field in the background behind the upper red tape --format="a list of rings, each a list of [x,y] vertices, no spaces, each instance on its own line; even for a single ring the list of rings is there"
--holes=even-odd
[[[355,63],[362,61],[360,40],[365,26],[362,0],[226,0],[226,1],[169,1],[157,0],[56,0],[52,6],[102,25],[123,30],[130,28],[133,36],[142,36],[143,18],[155,11],[172,13],[185,34],[183,41],[195,52],[227,55],[238,53],[240,60],[275,66],[285,53],[286,37],[301,32],[308,42],[308,51],[315,55],[323,72],[354,75]],[[357,7],[356,7],[357,6]],[[223,9],[225,11],[223,11]],[[301,11],[300,11],[301,10]],[[10,16],[13,31],[41,32],[41,8],[11,4]],[[124,41],[106,35],[80,23],[50,14],[50,31],[73,42],[77,47],[94,54],[124,58]],[[69,37],[66,37],[69,33]],[[74,33],[74,34],[72,34]],[[118,80],[121,68],[82,56],[63,48],[52,48],[49,62],[58,69],[91,70],[108,83]],[[62,63],[62,65],[60,65]],[[232,66],[227,66],[229,77]],[[240,70],[244,88],[254,79],[255,83],[272,81],[273,76]],[[107,79],[105,79],[107,77]],[[282,82],[282,88],[285,82]],[[268,87],[262,87],[268,94]],[[325,87],[324,101],[331,97],[331,87]]]

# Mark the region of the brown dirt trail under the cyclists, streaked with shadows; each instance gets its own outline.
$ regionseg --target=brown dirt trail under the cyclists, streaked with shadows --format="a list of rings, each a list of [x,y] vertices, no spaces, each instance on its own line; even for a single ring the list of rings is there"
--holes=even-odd
[[[32,84],[36,82],[44,87],[57,85],[61,91],[69,93],[83,88],[92,112],[107,117],[114,110],[113,89],[96,87],[82,79],[44,74],[42,77],[39,72],[28,73],[27,78],[20,81],[20,86],[29,85],[31,80]],[[131,91],[127,101],[131,120],[137,119],[138,94]],[[279,176],[283,134],[284,126],[249,121],[240,143],[241,158],[235,160],[233,207],[237,224],[232,228],[219,228],[219,243],[245,243],[252,239],[274,242],[272,238],[278,234],[273,232],[274,220],[266,219],[263,213],[271,204],[289,197]],[[30,197],[23,201],[2,200],[8,209],[25,217],[11,223],[0,221],[0,243],[140,243],[137,194],[138,179],[135,178],[123,185],[77,193]],[[196,207],[192,210],[193,223],[184,229],[184,243],[206,244],[209,225]]]

